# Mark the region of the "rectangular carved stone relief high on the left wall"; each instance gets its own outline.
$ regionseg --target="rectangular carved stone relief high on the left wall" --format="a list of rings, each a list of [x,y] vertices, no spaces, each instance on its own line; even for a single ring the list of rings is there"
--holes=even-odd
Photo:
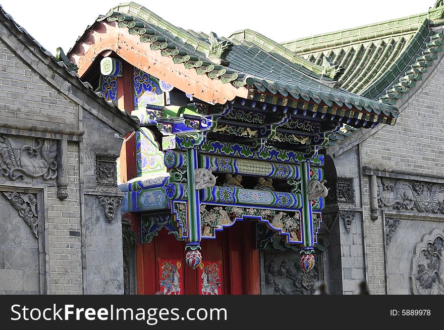
[[[50,180],[57,177],[57,142],[34,140],[34,145],[19,146],[17,141],[0,136],[0,176],[11,181],[42,177]]]

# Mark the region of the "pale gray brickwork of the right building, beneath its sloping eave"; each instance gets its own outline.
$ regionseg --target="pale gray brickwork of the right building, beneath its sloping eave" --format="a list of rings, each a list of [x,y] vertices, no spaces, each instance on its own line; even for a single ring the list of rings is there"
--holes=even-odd
[[[394,127],[385,126],[361,143],[362,161],[372,167],[441,176],[444,155],[444,66],[400,114]],[[385,293],[383,227],[381,216],[370,219],[369,179],[364,176],[364,222],[367,240],[368,284],[372,294]],[[419,234],[418,235],[422,235]]]

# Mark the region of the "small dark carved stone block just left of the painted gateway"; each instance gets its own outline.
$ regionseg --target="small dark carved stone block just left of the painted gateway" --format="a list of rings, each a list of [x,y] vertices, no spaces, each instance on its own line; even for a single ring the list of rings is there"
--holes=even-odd
[[[95,182],[97,190],[105,192],[120,191],[117,188],[116,159],[118,156],[111,153],[96,153]]]

